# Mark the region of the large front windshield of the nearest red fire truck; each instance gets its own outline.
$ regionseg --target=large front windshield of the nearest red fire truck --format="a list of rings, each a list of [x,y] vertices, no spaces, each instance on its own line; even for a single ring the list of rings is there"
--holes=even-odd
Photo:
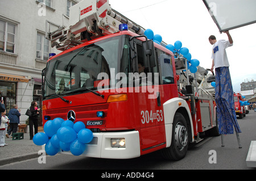
[[[110,76],[113,76],[110,71],[114,73],[124,71],[123,69],[130,71],[127,66],[129,43],[121,40],[121,36],[116,36],[98,41],[49,61],[46,68],[44,96],[65,95],[83,90],[83,87],[87,88],[85,90],[97,90],[98,83],[102,79],[105,81],[105,87],[102,88],[109,87]],[[122,47],[122,51],[119,47]],[[120,59],[121,64],[118,61]],[[118,68],[119,66],[123,68]],[[100,73],[103,73],[105,78],[99,78]]]

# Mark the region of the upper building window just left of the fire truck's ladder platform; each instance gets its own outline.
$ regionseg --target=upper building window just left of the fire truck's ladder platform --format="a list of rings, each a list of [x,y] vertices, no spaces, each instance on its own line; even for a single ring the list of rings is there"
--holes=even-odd
[[[36,58],[42,60],[48,60],[49,58],[49,40],[39,32],[36,37]]]

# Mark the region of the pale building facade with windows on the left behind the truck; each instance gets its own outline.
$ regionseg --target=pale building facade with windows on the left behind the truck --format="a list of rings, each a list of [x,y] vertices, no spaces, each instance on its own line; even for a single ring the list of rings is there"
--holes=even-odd
[[[28,119],[24,114],[33,100],[41,105],[42,70],[49,53],[59,53],[51,47],[46,33],[68,27],[69,7],[77,2],[0,1],[0,96],[7,114],[13,104],[18,104],[21,124]]]

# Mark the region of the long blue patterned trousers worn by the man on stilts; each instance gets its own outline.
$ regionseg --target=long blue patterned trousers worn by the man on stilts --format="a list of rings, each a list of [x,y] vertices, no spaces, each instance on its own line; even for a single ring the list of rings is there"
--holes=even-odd
[[[234,126],[236,132],[241,133],[234,109],[234,95],[229,68],[216,68],[215,73],[215,101],[219,132],[220,134],[233,134]]]

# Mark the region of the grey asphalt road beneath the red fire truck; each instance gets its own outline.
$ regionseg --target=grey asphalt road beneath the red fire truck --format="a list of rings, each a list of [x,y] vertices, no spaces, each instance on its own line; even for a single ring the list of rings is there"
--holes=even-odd
[[[238,148],[236,134],[230,134],[224,136],[224,147],[221,147],[221,136],[208,137],[199,144],[192,145],[186,157],[180,161],[164,160],[158,152],[121,160],[58,154],[53,157],[47,155],[46,163],[39,164],[38,158],[34,158],[0,166],[0,170],[254,170],[255,168],[246,166],[246,157],[250,142],[256,140],[256,112],[250,111],[246,117],[238,119],[238,123],[242,131],[242,149]]]

